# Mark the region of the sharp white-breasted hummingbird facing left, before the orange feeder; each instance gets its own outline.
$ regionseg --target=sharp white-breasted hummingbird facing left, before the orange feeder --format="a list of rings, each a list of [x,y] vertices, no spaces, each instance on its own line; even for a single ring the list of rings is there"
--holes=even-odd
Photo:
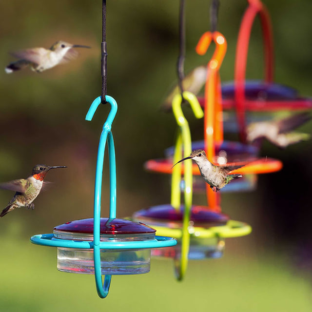
[[[205,182],[210,185],[211,189],[214,192],[220,191],[232,180],[243,177],[240,174],[229,175],[229,172],[241,168],[244,165],[216,166],[207,159],[204,150],[195,150],[191,153],[189,157],[185,157],[179,160],[177,163],[186,159],[192,159],[196,162],[201,176],[204,178]],[[176,164],[174,166],[176,166]]]

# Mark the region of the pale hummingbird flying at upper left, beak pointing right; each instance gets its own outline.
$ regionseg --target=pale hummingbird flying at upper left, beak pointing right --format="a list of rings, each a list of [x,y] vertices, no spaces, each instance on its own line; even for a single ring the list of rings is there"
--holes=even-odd
[[[11,52],[10,54],[19,59],[5,67],[7,74],[13,73],[27,66],[31,70],[41,73],[46,69],[58,64],[66,63],[78,56],[74,48],[90,48],[86,45],[71,44],[64,41],[57,41],[50,49],[32,48]]]

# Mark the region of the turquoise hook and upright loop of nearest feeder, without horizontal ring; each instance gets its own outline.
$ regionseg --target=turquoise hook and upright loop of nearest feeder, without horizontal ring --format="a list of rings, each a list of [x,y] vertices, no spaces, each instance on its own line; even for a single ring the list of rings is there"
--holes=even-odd
[[[111,110],[103,125],[102,133],[98,143],[98,160],[96,169],[95,191],[94,191],[94,224],[93,224],[93,253],[94,253],[94,271],[98,295],[105,298],[109,292],[112,275],[105,275],[102,284],[101,257],[100,257],[100,213],[101,213],[101,187],[103,176],[103,162],[106,140],[108,140],[109,153],[109,174],[110,174],[110,211],[109,217],[116,218],[116,158],[115,146],[112,134],[112,122],[117,113],[117,102],[110,96],[105,96],[108,103],[111,104]],[[96,98],[91,104],[86,115],[86,120],[92,120],[98,106],[101,104],[101,97]]]

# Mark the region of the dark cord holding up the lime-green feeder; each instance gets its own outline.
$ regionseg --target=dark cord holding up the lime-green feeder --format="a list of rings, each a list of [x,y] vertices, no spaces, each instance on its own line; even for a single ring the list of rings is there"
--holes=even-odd
[[[180,0],[179,8],[179,56],[177,59],[177,76],[178,86],[180,88],[182,101],[183,98],[183,85],[182,80],[184,79],[184,59],[185,59],[185,0]]]

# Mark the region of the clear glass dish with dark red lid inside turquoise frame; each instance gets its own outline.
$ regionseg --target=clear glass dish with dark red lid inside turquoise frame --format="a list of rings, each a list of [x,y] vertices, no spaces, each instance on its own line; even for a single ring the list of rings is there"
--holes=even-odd
[[[125,219],[100,219],[100,241],[129,242],[155,240],[156,230]],[[71,221],[54,228],[54,237],[75,241],[93,241],[93,218]],[[58,247],[58,270],[94,273],[93,249]],[[101,249],[102,274],[142,274],[150,271],[151,249]]]

